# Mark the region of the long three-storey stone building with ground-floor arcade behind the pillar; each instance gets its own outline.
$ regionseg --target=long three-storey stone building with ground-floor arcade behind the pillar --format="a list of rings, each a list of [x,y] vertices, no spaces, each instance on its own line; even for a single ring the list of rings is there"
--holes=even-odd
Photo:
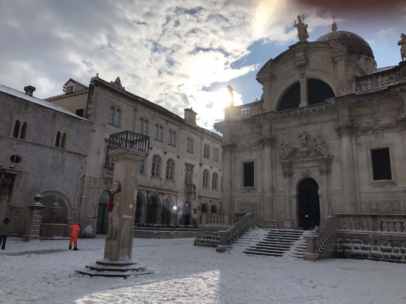
[[[86,174],[78,187],[94,232],[107,230],[114,170],[106,153],[109,135],[125,130],[150,137],[140,168],[136,224],[196,225],[202,212],[221,211],[221,137],[196,126],[192,108],[182,118],[125,90],[119,78],[109,83],[96,76],[89,88],[71,79],[65,88],[65,94],[47,100],[76,113],[85,109],[93,123]]]

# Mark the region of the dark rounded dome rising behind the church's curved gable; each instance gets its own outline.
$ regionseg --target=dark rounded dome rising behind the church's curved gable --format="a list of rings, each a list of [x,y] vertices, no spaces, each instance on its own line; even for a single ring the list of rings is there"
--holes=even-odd
[[[335,41],[346,46],[348,49],[355,49],[361,55],[375,59],[371,47],[364,38],[347,31],[333,31],[320,36],[316,41]]]

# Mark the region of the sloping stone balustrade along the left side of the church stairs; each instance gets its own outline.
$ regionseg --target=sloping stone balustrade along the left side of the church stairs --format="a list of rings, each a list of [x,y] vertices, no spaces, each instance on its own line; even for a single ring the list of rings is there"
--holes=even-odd
[[[249,227],[253,226],[254,220],[255,215],[253,213],[247,213],[228,229],[218,231],[219,242],[216,247],[216,252],[223,253],[231,242],[247,231]]]

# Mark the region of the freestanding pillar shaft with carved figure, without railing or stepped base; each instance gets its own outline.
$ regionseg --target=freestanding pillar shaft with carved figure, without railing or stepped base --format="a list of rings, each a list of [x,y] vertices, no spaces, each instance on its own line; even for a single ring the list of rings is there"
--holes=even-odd
[[[120,185],[121,192],[117,197],[114,196],[113,211],[109,214],[104,260],[131,261],[138,174],[140,162],[147,154],[121,149],[110,151],[109,155],[114,158],[113,184]]]

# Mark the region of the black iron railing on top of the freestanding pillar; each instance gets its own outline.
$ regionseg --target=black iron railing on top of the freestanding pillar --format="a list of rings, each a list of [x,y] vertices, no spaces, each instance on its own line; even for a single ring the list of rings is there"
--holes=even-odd
[[[149,152],[149,136],[133,131],[122,131],[110,135],[108,151],[130,149],[139,152]]]

